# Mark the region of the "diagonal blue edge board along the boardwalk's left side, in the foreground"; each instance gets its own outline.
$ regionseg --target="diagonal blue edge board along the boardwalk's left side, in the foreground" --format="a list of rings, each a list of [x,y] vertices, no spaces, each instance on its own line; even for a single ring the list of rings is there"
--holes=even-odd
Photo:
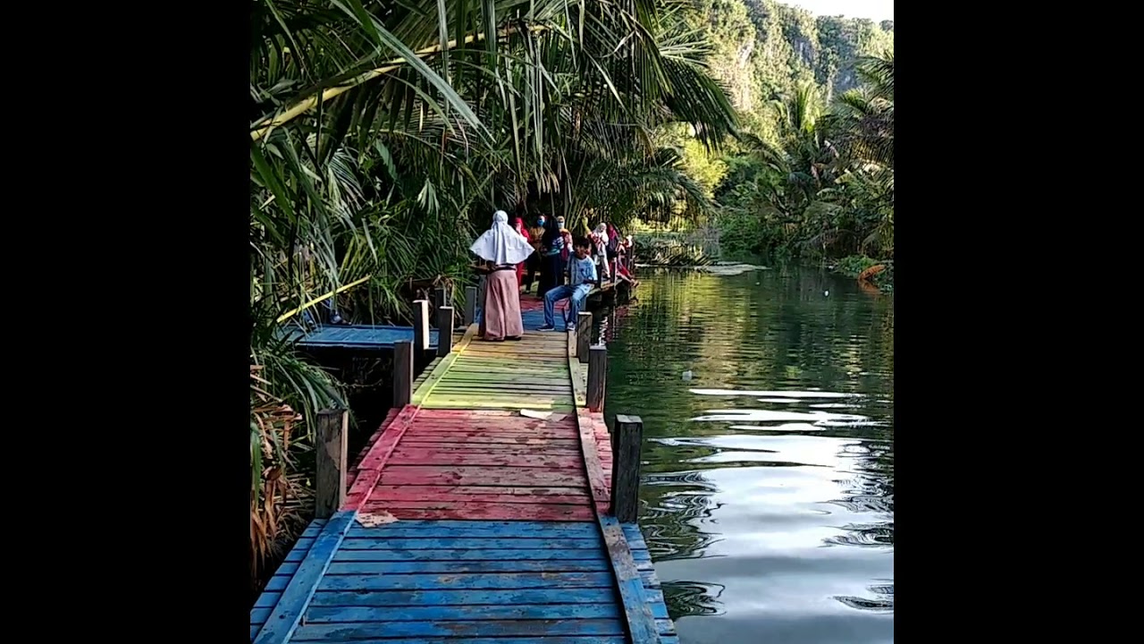
[[[334,551],[342,543],[345,531],[356,517],[357,512],[350,511],[337,512],[329,519],[310,548],[309,556],[302,561],[302,566],[278,599],[267,623],[259,631],[254,644],[281,644],[289,641],[307,604],[318,588],[319,580],[333,560]]]

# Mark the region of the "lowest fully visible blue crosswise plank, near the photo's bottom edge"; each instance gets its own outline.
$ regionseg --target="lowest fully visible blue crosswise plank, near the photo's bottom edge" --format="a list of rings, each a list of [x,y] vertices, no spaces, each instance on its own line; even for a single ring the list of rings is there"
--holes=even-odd
[[[450,622],[307,623],[291,642],[341,642],[382,637],[543,637],[547,635],[623,635],[620,620],[522,620]]]

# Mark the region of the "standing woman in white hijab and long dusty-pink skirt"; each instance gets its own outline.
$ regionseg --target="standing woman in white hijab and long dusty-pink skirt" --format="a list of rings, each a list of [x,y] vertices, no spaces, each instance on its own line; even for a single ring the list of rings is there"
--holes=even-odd
[[[499,210],[493,214],[492,228],[477,237],[469,250],[488,267],[482,315],[484,339],[494,343],[521,339],[524,320],[521,319],[516,266],[533,253],[532,245],[508,225],[508,213]]]

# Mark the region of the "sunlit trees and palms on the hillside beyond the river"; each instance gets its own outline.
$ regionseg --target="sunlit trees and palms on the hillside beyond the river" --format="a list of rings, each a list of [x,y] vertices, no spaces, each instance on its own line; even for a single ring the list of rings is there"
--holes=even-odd
[[[723,251],[892,258],[892,22],[697,1],[746,134],[726,154],[685,159],[721,206]]]

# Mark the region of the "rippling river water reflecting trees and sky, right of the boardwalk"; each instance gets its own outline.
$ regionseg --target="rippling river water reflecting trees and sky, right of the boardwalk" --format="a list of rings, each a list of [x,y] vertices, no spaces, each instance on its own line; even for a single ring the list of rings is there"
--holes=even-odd
[[[605,414],[684,644],[893,641],[893,298],[825,270],[641,274]]]

